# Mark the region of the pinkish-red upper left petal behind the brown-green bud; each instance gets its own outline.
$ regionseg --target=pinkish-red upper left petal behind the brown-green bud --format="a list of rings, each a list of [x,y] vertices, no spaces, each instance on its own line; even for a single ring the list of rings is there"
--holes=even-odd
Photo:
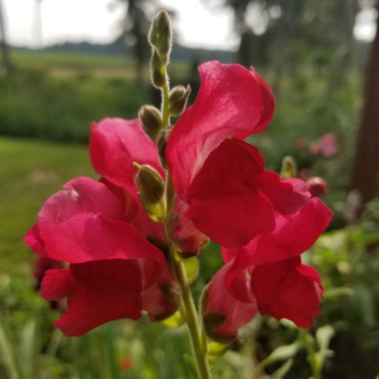
[[[149,164],[164,177],[156,145],[142,129],[139,119],[105,118],[93,123],[89,154],[94,169],[136,196],[133,162]]]

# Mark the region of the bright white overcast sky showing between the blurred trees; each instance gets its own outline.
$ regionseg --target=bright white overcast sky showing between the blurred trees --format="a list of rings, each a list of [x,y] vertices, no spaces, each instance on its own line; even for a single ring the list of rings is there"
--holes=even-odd
[[[16,46],[40,47],[64,41],[108,43],[119,32],[125,9],[116,0],[43,0],[42,37],[38,37],[35,0],[0,0],[7,16],[6,33]],[[40,0],[41,1],[41,0]],[[178,41],[189,47],[234,50],[239,37],[233,31],[230,9],[207,9],[202,0],[161,0],[177,11],[175,26]],[[361,12],[354,34],[361,40],[375,35],[375,14]],[[254,12],[249,16],[254,18]],[[257,24],[257,23],[255,23]],[[258,23],[259,26],[259,23]]]

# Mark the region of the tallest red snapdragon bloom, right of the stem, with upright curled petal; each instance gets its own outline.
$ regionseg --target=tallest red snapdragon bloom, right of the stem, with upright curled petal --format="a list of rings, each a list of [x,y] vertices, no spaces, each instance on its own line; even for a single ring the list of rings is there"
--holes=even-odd
[[[199,71],[199,95],[173,128],[166,161],[196,228],[222,246],[241,247],[274,229],[275,211],[290,216],[310,195],[302,180],[264,170],[258,150],[241,140],[272,118],[267,83],[240,65],[213,61]]]

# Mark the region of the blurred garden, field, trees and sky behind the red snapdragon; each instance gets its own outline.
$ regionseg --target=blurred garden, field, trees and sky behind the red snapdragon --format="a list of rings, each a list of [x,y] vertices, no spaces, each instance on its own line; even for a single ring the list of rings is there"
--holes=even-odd
[[[200,84],[197,67],[208,60],[253,65],[270,84],[274,119],[249,142],[270,170],[279,172],[291,155],[299,177],[322,177],[323,200],[335,213],[305,254],[326,290],[312,330],[324,377],[378,377],[377,6],[374,0],[0,0],[0,378],[192,377],[182,363],[190,349],[181,328],[142,318],[63,337],[51,321],[64,304],[40,298],[47,266],[23,243],[46,198],[72,177],[97,177],[86,147],[90,122],[135,118],[141,105],[159,106],[146,34],[161,9],[173,21],[171,83],[191,84],[190,103]],[[222,264],[215,244],[200,259],[197,294]],[[253,378],[262,361],[268,374],[290,362],[286,375],[272,378],[311,376],[298,331],[288,323],[256,317],[242,338],[215,366],[216,378]],[[286,353],[273,356],[280,346]]]

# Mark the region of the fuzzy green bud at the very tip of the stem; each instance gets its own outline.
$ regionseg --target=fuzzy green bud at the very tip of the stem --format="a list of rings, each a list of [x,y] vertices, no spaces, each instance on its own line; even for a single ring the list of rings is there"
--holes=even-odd
[[[171,25],[170,18],[165,11],[161,11],[155,16],[150,26],[149,42],[157,51],[161,61],[167,65],[171,50]]]

